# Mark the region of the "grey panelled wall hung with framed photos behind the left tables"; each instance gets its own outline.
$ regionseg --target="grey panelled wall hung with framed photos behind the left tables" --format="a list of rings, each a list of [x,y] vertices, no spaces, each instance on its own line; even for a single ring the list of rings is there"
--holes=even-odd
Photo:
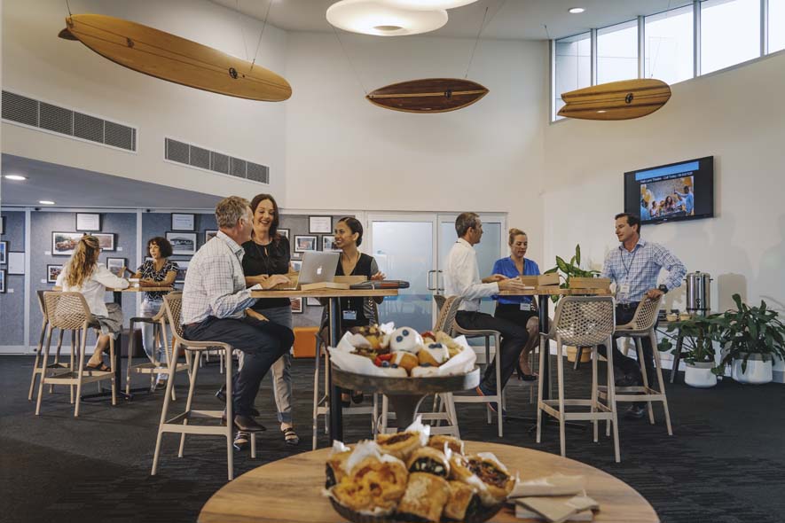
[[[30,343],[35,344],[42,315],[36,291],[54,285],[59,271],[73,252],[75,243],[85,233],[98,237],[102,246],[99,262],[119,274],[123,267],[137,269],[139,257],[144,262],[149,238],[161,236],[172,243],[171,260],[180,266],[176,287],[182,288],[192,255],[217,231],[212,213],[142,213],[142,238],[137,238],[137,213],[32,212],[30,252],[25,252],[24,211],[3,211],[0,220],[0,347],[22,346],[24,322],[7,321],[23,318],[25,301],[29,301]],[[281,215],[279,231],[289,238],[290,255],[295,269],[302,263],[306,250],[334,249],[334,226],[343,215]],[[25,295],[27,256],[30,258],[30,295]],[[107,296],[107,300],[110,298]],[[123,293],[124,323],[136,314],[137,297]],[[294,326],[318,325],[322,307],[316,300],[293,301]]]

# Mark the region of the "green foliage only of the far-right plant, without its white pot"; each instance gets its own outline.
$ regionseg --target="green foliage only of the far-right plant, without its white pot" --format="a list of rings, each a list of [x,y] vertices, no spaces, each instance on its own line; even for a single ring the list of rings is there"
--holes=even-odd
[[[722,361],[714,369],[716,374],[723,367],[742,360],[742,372],[747,371],[750,355],[777,355],[785,359],[785,324],[777,311],[760,301],[759,307],[750,307],[734,294],[736,310],[727,310],[720,315],[718,341],[723,347]]]

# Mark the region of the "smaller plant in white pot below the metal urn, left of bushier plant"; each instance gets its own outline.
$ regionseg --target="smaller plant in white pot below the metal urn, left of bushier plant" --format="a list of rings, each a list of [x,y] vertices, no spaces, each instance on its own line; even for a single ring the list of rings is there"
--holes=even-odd
[[[717,385],[717,376],[712,372],[715,366],[714,341],[719,340],[722,315],[695,316],[688,320],[673,322],[667,332],[679,331],[682,336],[682,357],[687,367],[684,382],[689,386],[710,388]],[[676,354],[671,340],[663,338],[657,344],[661,352]]]

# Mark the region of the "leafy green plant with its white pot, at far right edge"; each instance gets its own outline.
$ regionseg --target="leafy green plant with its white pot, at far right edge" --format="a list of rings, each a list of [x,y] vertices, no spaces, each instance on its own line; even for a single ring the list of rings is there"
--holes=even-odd
[[[736,310],[721,315],[719,342],[722,361],[714,372],[731,365],[731,375],[741,383],[761,384],[772,380],[772,360],[785,359],[785,324],[765,301],[750,307],[734,294]]]

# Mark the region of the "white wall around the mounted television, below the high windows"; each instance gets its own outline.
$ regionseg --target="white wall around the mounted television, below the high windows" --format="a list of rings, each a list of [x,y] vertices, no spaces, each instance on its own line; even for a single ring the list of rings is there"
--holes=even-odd
[[[714,277],[712,308],[731,295],[785,309],[785,53],[672,86],[658,112],[633,121],[559,121],[546,129],[546,259],[580,243],[600,268],[617,246],[624,172],[714,156],[713,219],[644,227],[689,271]],[[669,293],[684,308],[683,288]]]

